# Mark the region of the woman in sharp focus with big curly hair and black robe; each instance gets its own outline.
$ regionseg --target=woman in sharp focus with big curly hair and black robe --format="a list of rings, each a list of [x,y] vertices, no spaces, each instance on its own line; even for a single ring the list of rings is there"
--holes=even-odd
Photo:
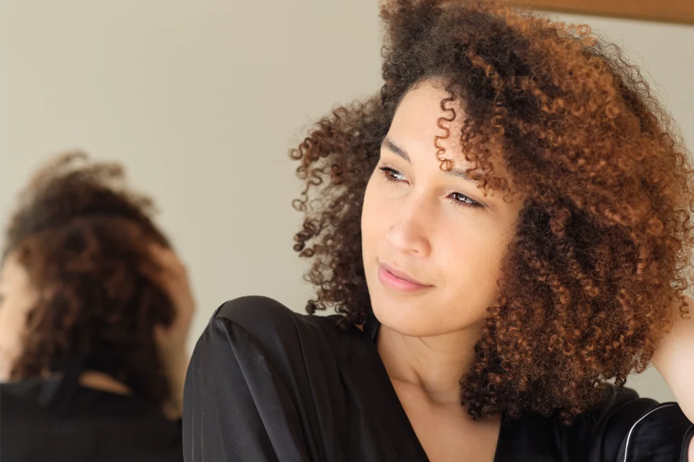
[[[694,418],[686,148],[578,28],[393,0],[380,94],[292,154],[308,311],[225,303],[187,373],[187,461],[679,461]],[[688,454],[687,454],[688,453]]]

